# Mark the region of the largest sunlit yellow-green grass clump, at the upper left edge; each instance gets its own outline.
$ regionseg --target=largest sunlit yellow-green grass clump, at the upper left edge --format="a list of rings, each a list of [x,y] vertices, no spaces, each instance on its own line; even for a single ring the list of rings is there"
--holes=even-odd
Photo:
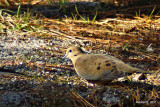
[[[12,13],[13,17],[12,20],[8,21],[5,20],[4,17],[11,17],[9,13]],[[27,11],[23,12],[21,10],[21,4],[18,6],[17,12],[13,12],[8,9],[0,9],[0,18],[2,19],[2,23],[0,23],[0,29],[2,30],[5,28],[5,26],[8,26],[7,28],[12,28],[13,30],[23,30],[23,31],[33,31],[34,28],[37,28],[34,23],[38,23],[38,25],[42,25],[42,23],[39,23],[39,19],[37,19],[35,16],[33,16],[33,13],[30,12],[29,8]],[[34,22],[33,19],[36,19]],[[38,26],[38,29],[43,29],[43,26]]]

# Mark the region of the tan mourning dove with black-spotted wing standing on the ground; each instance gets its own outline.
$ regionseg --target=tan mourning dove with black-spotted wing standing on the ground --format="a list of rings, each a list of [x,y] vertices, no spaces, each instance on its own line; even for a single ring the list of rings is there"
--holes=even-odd
[[[70,58],[77,74],[88,81],[111,82],[132,73],[148,73],[131,67],[123,61],[103,54],[86,54],[80,47],[67,49],[66,58]]]

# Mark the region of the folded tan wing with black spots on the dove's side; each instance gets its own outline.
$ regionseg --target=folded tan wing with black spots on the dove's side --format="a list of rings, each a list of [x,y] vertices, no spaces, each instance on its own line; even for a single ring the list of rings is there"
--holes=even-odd
[[[114,60],[104,55],[83,55],[75,62],[75,70],[84,79],[113,80],[122,76]]]

